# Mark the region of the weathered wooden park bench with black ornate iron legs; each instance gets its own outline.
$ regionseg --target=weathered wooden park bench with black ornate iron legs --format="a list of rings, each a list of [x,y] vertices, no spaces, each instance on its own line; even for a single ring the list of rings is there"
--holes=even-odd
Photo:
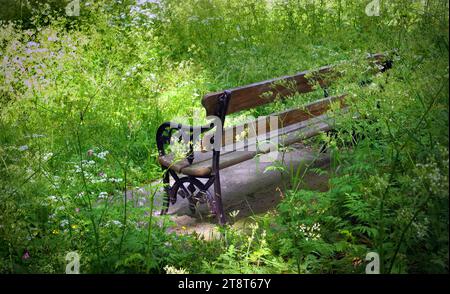
[[[391,67],[391,62],[385,59],[383,54],[373,54],[368,57],[375,71],[385,71]],[[328,118],[327,111],[334,103],[341,108],[345,107],[346,97],[345,94],[333,97],[328,95],[327,87],[339,75],[332,74],[333,69],[333,66],[325,66],[318,70],[303,71],[292,76],[207,94],[202,99],[202,105],[206,114],[216,117],[219,123],[198,127],[172,122],[163,123],[156,134],[158,161],[164,171],[163,183],[166,193],[161,214],[167,213],[169,205],[174,204],[177,195],[180,195],[189,200],[192,210],[198,203],[207,202],[219,223],[224,224],[226,216],[221,199],[220,170],[252,159],[258,154],[269,153],[273,150],[271,145],[260,144],[266,140],[276,139],[278,144],[287,146],[331,130],[333,123]],[[330,78],[330,76],[334,77]],[[227,115],[268,104],[296,93],[312,92],[314,85],[319,85],[323,89],[324,98],[300,108],[272,114],[272,122],[273,117],[277,119],[275,128],[258,128],[261,122],[268,122],[268,117],[250,121],[245,125],[223,128]],[[247,131],[244,140],[238,138],[242,130]],[[185,156],[177,160],[174,154],[166,154],[165,151],[165,147],[170,145],[171,137],[176,132],[179,138],[184,138],[179,141],[188,147]],[[204,145],[207,145],[205,142],[211,143],[213,147],[204,148]],[[198,143],[201,150],[195,150]],[[240,146],[238,150],[236,150],[237,145]],[[227,148],[230,146],[232,148]],[[170,185],[170,177],[174,180],[173,185]],[[213,185],[214,195],[211,195],[208,189]]]

